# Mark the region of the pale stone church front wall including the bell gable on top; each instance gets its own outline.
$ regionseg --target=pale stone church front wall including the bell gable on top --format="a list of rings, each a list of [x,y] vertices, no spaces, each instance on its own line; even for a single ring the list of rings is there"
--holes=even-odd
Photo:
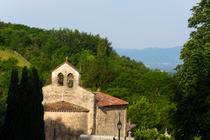
[[[58,84],[58,74],[62,73],[64,76],[63,85]],[[73,75],[73,87],[69,88],[67,85],[68,74]],[[43,87],[43,104],[66,101],[75,105],[84,107],[89,110],[87,115],[87,133],[94,133],[95,120],[95,94],[79,86],[80,74],[68,62],[58,66],[52,71],[52,84]]]

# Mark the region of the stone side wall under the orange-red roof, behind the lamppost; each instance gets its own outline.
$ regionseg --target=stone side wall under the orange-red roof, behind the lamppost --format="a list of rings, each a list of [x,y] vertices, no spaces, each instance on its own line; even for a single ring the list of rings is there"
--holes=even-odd
[[[117,122],[122,123],[120,131],[121,137],[126,136],[126,119],[127,108],[120,107],[103,107],[96,109],[96,135],[118,136]]]

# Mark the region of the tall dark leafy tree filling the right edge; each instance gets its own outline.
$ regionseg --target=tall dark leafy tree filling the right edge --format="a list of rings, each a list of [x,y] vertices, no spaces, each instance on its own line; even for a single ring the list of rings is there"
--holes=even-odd
[[[210,0],[193,7],[189,27],[194,28],[181,51],[183,65],[178,67],[176,139],[210,139]]]

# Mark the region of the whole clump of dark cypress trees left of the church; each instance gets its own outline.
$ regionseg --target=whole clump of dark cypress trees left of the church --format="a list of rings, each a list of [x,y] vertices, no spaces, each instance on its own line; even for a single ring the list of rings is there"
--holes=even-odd
[[[7,114],[0,135],[3,140],[44,140],[42,82],[35,68],[24,67],[18,84],[17,70],[11,75]]]

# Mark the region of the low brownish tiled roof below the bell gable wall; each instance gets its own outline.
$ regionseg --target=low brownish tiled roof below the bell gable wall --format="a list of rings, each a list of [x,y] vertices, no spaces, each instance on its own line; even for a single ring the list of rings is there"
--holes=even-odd
[[[81,106],[60,101],[55,103],[47,103],[44,104],[44,111],[48,112],[89,112],[88,109],[83,108]]]

